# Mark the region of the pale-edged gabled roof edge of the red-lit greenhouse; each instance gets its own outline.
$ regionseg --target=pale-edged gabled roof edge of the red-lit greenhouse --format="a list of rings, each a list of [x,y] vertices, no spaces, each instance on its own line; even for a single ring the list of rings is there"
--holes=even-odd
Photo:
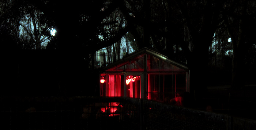
[[[176,62],[174,60],[170,60],[167,56],[165,56],[165,55],[163,55],[163,54],[161,54],[161,53],[159,53],[155,50],[149,49],[149,48],[142,48],[142,49],[139,49],[139,50],[137,50],[137,51],[135,51],[131,54],[128,54],[128,55],[124,56],[122,59],[107,65],[106,67],[103,68],[103,70],[108,70],[108,69],[113,68],[115,66],[122,65],[122,64],[128,62],[129,60],[131,60],[135,57],[138,57],[142,54],[150,54],[150,55],[152,55],[156,58],[159,58],[163,61],[166,61],[167,63],[170,63],[170,64],[172,64],[174,66],[177,66],[181,69],[189,70],[189,68],[186,65],[184,65],[180,62]]]

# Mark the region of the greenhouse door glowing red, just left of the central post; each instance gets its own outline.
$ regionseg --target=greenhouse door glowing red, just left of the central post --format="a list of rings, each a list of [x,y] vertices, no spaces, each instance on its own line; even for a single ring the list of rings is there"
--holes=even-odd
[[[125,75],[126,97],[141,98],[141,75]]]

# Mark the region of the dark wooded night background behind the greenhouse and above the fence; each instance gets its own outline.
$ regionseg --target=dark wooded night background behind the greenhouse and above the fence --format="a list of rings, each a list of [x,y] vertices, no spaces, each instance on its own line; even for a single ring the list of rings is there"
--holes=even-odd
[[[193,107],[205,108],[208,102],[217,110],[251,107],[255,8],[251,0],[3,0],[1,96],[99,96],[100,69],[92,65],[92,56],[105,47],[118,48],[126,36],[133,48],[153,48],[188,65]],[[39,23],[31,35],[20,34],[26,16]],[[51,28],[57,30],[54,37]],[[49,37],[46,46],[38,46],[39,34]],[[212,46],[214,41],[218,44]],[[228,106],[230,95],[239,107]]]

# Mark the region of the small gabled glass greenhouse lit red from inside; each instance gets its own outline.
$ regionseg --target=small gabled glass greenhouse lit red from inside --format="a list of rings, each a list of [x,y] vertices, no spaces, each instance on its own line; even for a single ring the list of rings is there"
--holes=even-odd
[[[102,70],[100,96],[167,102],[177,93],[189,92],[189,72],[186,65],[143,48]]]

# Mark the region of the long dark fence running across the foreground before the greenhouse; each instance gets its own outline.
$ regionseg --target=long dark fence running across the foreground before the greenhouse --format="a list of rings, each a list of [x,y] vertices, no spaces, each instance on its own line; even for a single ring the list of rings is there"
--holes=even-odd
[[[256,122],[131,98],[2,97],[1,126],[10,130],[229,130]]]

